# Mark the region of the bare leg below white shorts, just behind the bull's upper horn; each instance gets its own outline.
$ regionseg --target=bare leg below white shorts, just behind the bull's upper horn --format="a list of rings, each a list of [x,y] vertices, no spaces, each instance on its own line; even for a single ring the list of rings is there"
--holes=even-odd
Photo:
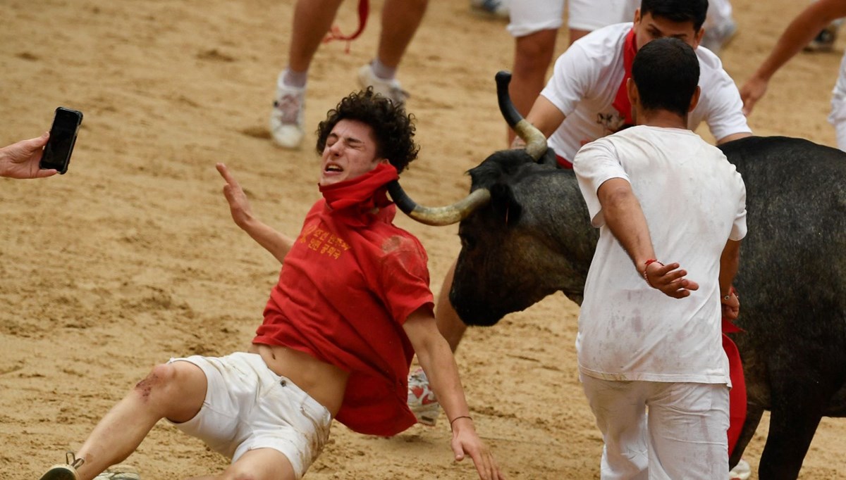
[[[508,94],[517,112],[525,117],[547,81],[547,69],[555,52],[558,29],[541,30],[514,39],[514,73]],[[508,145],[514,130],[508,128]]]

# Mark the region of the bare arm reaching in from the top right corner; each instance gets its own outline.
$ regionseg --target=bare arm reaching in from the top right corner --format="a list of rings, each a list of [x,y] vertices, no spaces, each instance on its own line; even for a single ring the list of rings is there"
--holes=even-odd
[[[805,45],[808,45],[808,42],[813,40],[832,20],[843,16],[846,16],[846,2],[843,0],[818,0],[811,3],[790,22],[770,52],[770,56],[766,57],[755,74],[740,89],[744,113],[749,115],[752,112],[755,103],[766,93],[766,87],[772,75],[779,68],[788,63],[788,60],[799,53]]]

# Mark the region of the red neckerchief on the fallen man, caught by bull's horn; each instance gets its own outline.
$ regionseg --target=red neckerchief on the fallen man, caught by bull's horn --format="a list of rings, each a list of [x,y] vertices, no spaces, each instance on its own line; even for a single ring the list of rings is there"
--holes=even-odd
[[[391,205],[387,198],[387,183],[398,179],[397,169],[382,162],[370,172],[351,180],[320,186],[321,194],[332,213],[349,215],[355,223],[366,225],[374,210]]]

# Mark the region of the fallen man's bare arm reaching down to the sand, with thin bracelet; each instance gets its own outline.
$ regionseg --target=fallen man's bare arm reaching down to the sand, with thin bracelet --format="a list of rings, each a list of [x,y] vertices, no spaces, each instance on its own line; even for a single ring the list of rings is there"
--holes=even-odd
[[[417,361],[426,372],[437,401],[450,420],[455,460],[463,460],[466,453],[473,459],[476,471],[483,480],[503,479],[493,455],[475,432],[470,419],[470,407],[467,406],[459,379],[459,368],[447,341],[437,330],[435,317],[426,309],[417,309],[405,320],[404,330],[409,335],[417,353]]]

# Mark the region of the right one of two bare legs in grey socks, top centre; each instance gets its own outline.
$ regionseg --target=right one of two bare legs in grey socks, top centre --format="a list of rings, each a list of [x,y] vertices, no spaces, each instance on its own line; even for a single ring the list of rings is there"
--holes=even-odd
[[[308,3],[309,0],[299,0]],[[382,7],[382,34],[379,35],[379,61],[397,68],[426,13],[428,0],[385,0]]]

